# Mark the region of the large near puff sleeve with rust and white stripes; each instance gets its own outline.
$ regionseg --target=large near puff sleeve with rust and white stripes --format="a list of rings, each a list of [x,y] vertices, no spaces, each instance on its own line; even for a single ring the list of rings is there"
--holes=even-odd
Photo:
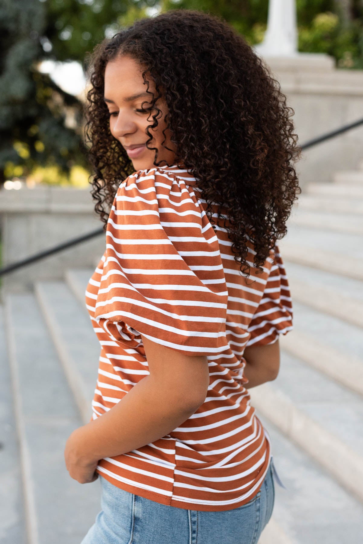
[[[194,191],[172,172],[139,170],[117,189],[95,319],[122,347],[140,333],[186,355],[228,348],[218,239]]]

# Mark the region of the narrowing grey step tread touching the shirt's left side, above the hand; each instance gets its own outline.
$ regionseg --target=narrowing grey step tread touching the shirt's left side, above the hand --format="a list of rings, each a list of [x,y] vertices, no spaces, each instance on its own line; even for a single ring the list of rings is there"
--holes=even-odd
[[[92,417],[91,403],[101,350],[90,317],[82,311],[64,281],[37,282],[35,294],[83,423],[86,424]]]

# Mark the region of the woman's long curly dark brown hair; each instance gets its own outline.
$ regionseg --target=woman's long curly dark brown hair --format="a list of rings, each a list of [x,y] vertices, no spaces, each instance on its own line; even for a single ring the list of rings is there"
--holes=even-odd
[[[147,91],[147,72],[155,82],[158,96],[151,93],[151,102],[157,113],[146,129],[147,144],[149,128],[158,126],[161,112],[155,102],[161,88],[167,127],[177,146],[173,164],[184,164],[197,178],[211,222],[211,202],[217,205],[240,271],[247,277],[251,272],[246,237],[254,244],[255,267],[262,271],[277,239],[285,236],[301,193],[293,168],[301,153],[290,119],[294,112],[279,83],[242,35],[222,18],[198,10],[174,9],[143,18],[98,44],[89,55],[85,134],[95,171],[91,194],[104,227],[109,212],[103,204],[110,209],[121,181],[135,171],[111,135],[103,100],[105,66],[121,54],[146,67]],[[148,149],[155,149],[154,165],[159,166],[157,148]]]

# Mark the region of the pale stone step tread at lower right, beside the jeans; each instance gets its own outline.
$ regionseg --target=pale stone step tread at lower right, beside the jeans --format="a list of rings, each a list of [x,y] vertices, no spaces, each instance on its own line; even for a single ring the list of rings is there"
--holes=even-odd
[[[253,387],[251,397],[264,385]],[[253,401],[251,404],[254,406]],[[274,481],[273,518],[281,530],[294,544],[360,544],[363,534],[361,503],[303,448],[284,436],[267,416],[258,409],[256,413],[270,435],[274,464],[287,488],[283,489]],[[266,540],[266,544],[272,542]],[[283,542],[281,540],[280,544]]]

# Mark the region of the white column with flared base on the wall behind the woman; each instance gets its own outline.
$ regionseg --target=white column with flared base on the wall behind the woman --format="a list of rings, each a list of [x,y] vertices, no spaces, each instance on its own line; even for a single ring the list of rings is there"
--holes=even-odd
[[[293,57],[297,52],[296,0],[270,0],[264,41],[254,46],[269,57]]]

